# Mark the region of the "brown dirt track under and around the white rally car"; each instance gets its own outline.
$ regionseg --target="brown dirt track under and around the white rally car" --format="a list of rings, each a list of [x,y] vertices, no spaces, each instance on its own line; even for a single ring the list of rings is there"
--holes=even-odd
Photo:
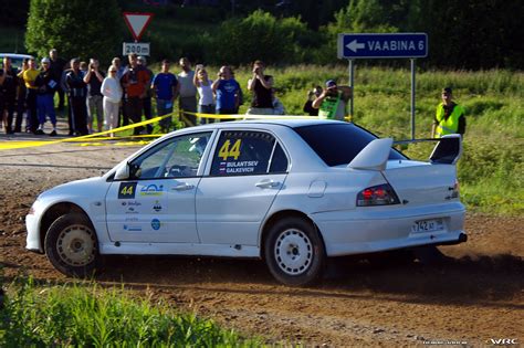
[[[0,261],[7,282],[18,274],[66,280],[45,256],[24,250],[24,215],[41,191],[96,176],[135,150],[70,144],[0,151]],[[98,280],[149,287],[154,296],[269,342],[523,342],[523,218],[468,215],[469,242],[440,247],[447,255],[440,263],[395,266],[343,259],[311,288],[279,285],[261,261],[245,260],[113,256]]]

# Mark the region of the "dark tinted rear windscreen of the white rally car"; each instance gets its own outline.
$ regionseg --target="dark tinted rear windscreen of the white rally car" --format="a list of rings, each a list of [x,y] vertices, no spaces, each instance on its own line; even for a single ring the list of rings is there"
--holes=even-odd
[[[323,124],[294,129],[329,167],[349,164],[361,149],[377,139],[354,124]],[[391,149],[389,159],[406,159],[406,157]]]

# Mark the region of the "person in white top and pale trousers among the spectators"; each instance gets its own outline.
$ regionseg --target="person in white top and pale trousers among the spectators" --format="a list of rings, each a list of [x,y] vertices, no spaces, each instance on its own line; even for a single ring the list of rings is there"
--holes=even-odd
[[[101,93],[104,96],[104,126],[106,130],[118,127],[118,108],[122,99],[122,86],[117,77],[118,68],[111,65],[107,71],[107,77],[104,78],[101,86]],[[113,133],[111,137],[113,137]]]

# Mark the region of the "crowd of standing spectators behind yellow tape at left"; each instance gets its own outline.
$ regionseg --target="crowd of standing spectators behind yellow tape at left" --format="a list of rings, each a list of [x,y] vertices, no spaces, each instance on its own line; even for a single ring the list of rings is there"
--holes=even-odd
[[[193,71],[187,57],[179,60],[178,74],[171,73],[169,60],[161,61],[158,74],[147,67],[144,56],[129,54],[126,63],[114,57],[107,71],[103,71],[96,59],[66,61],[52,49],[39,66],[31,57],[14,68],[6,56],[0,68],[0,115],[6,133],[43,135],[49,120],[52,129],[48,134],[56,136],[57,112],[67,115],[70,136],[112,130],[137,124],[143,117],[148,120],[169,115],[159,123],[161,133],[167,133],[172,130],[171,114],[177,99],[180,120],[186,126],[214,120],[198,114],[239,114],[244,103],[240,83],[228,65],[221,66],[212,77],[201,64]],[[284,106],[275,96],[273,76],[264,74],[264,63],[254,62],[248,82],[253,95],[248,114],[284,115]],[[134,128],[134,135],[151,133],[150,124]]]

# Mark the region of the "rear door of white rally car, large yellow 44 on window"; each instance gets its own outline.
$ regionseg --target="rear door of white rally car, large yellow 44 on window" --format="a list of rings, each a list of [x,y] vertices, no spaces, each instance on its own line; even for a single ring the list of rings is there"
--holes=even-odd
[[[202,243],[256,245],[261,222],[287,176],[275,137],[261,130],[222,130],[200,180],[197,229]]]

